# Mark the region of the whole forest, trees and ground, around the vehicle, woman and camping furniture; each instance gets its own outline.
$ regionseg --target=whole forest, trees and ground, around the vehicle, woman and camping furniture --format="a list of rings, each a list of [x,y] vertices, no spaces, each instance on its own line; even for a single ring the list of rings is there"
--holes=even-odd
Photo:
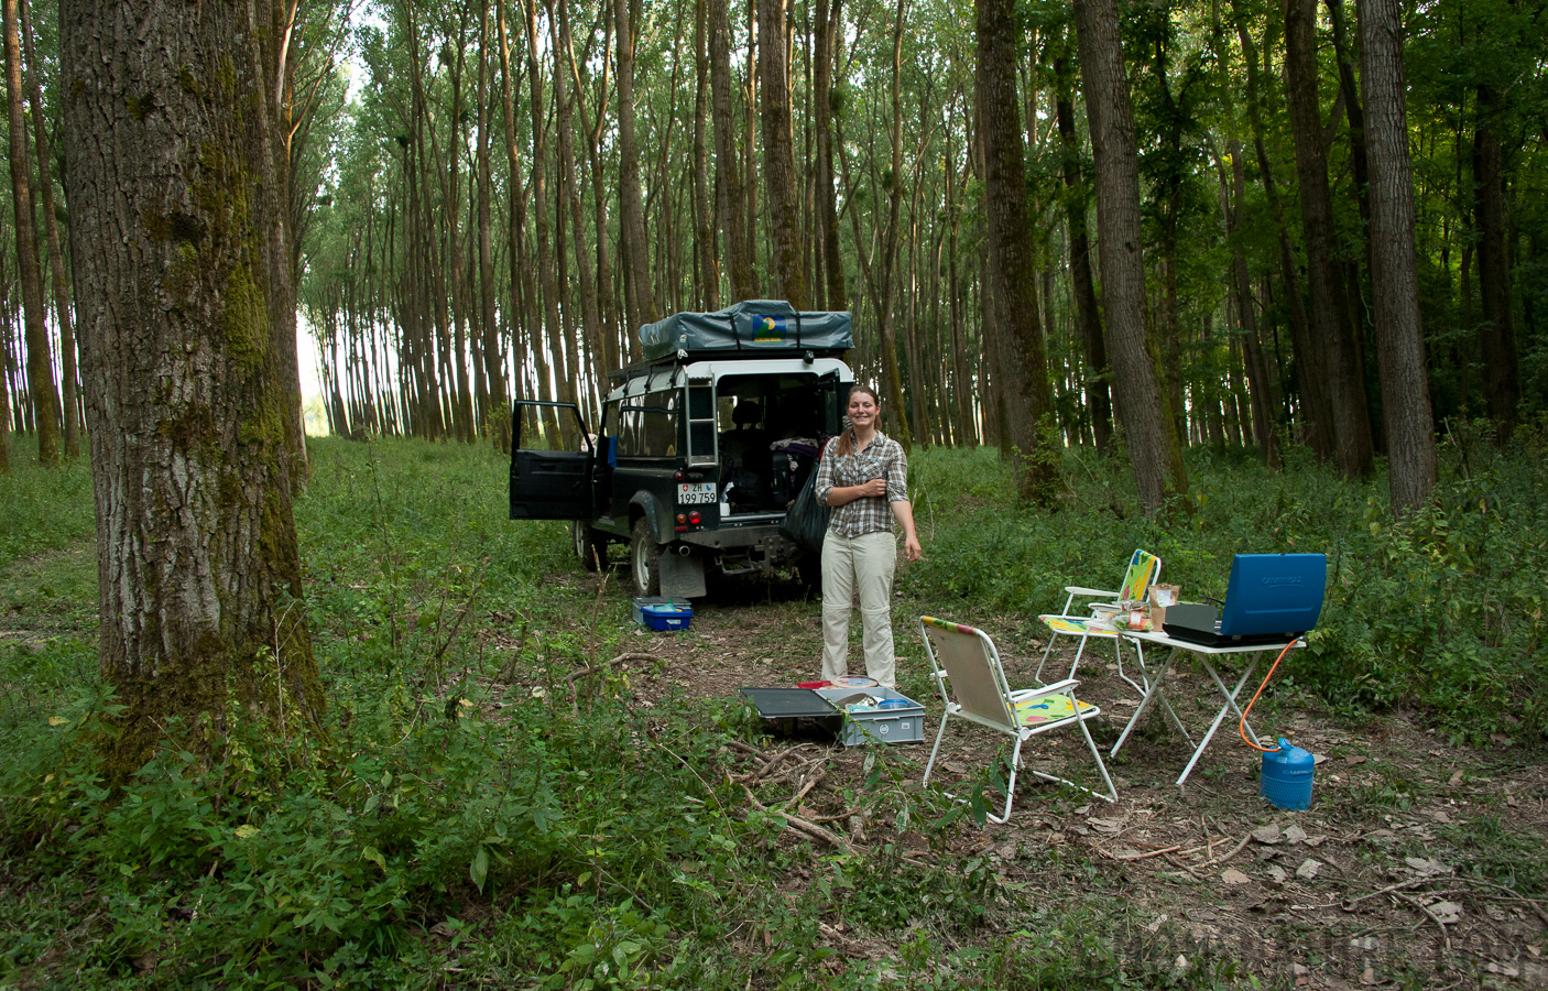
[[[0,0],[0,988],[1543,986],[1545,17]],[[650,633],[508,519],[743,300],[853,314],[932,736],[921,616],[1025,683],[1135,548],[1325,553],[1252,709],[1310,808],[1111,644],[1060,785],[783,736],[802,576]]]

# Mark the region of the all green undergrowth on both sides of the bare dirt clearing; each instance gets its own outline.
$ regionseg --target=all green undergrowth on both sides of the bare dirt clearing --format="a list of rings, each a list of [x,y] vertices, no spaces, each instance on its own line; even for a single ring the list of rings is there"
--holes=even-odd
[[[1039,513],[1012,505],[995,452],[920,451],[926,561],[904,571],[899,621],[1048,612],[1071,581],[1116,582],[1135,547],[1214,595],[1235,551],[1324,550],[1334,581],[1296,691],[1347,711],[1413,701],[1454,736],[1525,742],[1543,725],[1540,454],[1533,430],[1503,452],[1450,441],[1433,505],[1393,526],[1379,483],[1308,463],[1271,475],[1200,454],[1192,513],[1146,520],[1119,460],[1068,454],[1070,494]],[[232,711],[217,766],[169,749],[116,796],[96,757],[115,701],[94,630],[26,598],[39,567],[94,557],[90,482],[79,463],[0,480],[0,986],[1277,980],[1166,931],[1136,937],[1122,890],[1057,849],[1020,852],[1068,892],[1057,904],[963,853],[949,841],[972,810],[912,788],[915,754],[867,765],[865,852],[789,842],[728,777],[732,743],[759,742],[745,708],[646,706],[628,666],[580,674],[641,644],[627,593],[598,593],[563,523],[506,520],[506,460],[313,441],[311,468],[296,519],[327,732],[272,739]],[[63,612],[94,609],[90,574],[65,570]],[[1497,876],[1509,853],[1480,842],[1464,867]]]

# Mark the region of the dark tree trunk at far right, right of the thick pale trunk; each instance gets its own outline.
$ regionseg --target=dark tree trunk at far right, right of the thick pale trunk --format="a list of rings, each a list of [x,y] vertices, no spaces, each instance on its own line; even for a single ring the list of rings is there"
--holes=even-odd
[[[1505,156],[1500,150],[1500,94],[1494,87],[1478,85],[1478,119],[1472,132],[1472,214],[1478,229],[1478,308],[1481,311],[1478,338],[1483,345],[1483,393],[1489,420],[1500,424],[1500,440],[1505,440],[1519,421],[1517,406],[1522,401],[1522,382],[1505,240]],[[28,339],[31,339],[31,331],[28,331]],[[31,365],[31,358],[28,364]]]

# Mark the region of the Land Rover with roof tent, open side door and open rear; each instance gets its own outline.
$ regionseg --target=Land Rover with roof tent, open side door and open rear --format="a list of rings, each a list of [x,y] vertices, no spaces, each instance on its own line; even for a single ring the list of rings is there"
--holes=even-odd
[[[512,410],[511,519],[571,520],[588,568],[627,542],[635,595],[701,596],[706,576],[785,567],[814,584],[816,556],[779,530],[841,429],[850,314],[755,300],[639,339],[646,358],[608,376],[594,432],[574,404],[542,403],[573,412],[580,451],[522,449]]]

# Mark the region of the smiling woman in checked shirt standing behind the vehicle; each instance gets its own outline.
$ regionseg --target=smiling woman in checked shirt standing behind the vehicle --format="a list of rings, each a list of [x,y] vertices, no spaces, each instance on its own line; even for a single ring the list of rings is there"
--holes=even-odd
[[[822,542],[822,677],[831,681],[848,674],[850,602],[859,588],[865,674],[882,688],[895,688],[893,520],[902,526],[902,553],[909,561],[920,559],[920,537],[909,505],[909,458],[902,444],[876,429],[879,412],[876,390],[853,386],[850,429],[824,449],[817,463],[817,502],[833,511]]]

